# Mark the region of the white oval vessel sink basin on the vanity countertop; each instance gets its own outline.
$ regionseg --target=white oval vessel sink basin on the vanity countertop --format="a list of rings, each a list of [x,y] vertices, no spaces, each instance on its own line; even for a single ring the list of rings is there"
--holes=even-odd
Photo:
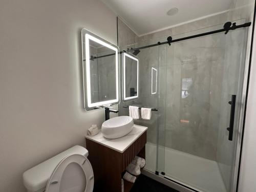
[[[133,118],[129,116],[120,116],[103,122],[101,133],[105,138],[117,139],[129,134],[132,129]]]

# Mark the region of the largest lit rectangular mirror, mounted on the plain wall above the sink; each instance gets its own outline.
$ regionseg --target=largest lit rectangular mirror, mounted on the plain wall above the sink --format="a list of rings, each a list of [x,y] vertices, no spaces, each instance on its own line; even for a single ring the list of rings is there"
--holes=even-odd
[[[118,47],[82,29],[83,96],[87,111],[119,102]]]

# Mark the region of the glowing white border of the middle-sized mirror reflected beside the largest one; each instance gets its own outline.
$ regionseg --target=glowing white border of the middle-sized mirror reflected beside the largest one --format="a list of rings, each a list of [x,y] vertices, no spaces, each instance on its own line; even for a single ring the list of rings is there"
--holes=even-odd
[[[126,88],[125,88],[125,83],[126,83],[126,79],[125,79],[125,57],[129,57],[135,61],[137,61],[137,95],[136,96],[132,96],[132,97],[126,97]],[[139,59],[137,57],[135,57],[132,54],[123,53],[123,100],[131,100],[131,99],[135,99],[139,97]]]

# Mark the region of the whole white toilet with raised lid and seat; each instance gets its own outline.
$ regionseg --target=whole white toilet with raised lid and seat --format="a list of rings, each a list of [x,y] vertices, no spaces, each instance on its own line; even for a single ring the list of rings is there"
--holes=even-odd
[[[23,182],[28,192],[92,192],[93,169],[86,148],[76,145],[28,169]]]

